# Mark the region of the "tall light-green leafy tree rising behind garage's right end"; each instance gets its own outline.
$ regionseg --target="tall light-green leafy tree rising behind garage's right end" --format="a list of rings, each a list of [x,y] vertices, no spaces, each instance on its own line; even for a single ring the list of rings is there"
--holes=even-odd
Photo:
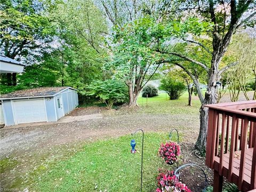
[[[87,84],[104,76],[106,20],[90,0],[59,2],[50,18],[57,26],[58,52],[53,56],[62,63],[61,84],[85,94]]]

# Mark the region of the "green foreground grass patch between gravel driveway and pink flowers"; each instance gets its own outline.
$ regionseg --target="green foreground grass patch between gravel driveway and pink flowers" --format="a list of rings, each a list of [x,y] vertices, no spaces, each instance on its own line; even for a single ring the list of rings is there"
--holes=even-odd
[[[70,158],[44,166],[31,174],[35,191],[139,191],[141,134],[134,135],[137,153],[131,154],[131,135],[88,143]],[[174,138],[173,140],[175,140]],[[143,161],[143,190],[154,191],[159,167],[170,169],[157,156],[167,133],[146,133]],[[173,169],[175,169],[173,167]]]

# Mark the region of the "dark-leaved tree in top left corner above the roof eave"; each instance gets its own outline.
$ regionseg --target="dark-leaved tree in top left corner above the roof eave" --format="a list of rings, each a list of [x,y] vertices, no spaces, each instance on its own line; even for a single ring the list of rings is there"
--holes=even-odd
[[[1,54],[20,60],[52,42],[54,27],[44,12],[49,9],[39,1],[1,0]],[[17,74],[7,74],[7,84],[16,85]]]

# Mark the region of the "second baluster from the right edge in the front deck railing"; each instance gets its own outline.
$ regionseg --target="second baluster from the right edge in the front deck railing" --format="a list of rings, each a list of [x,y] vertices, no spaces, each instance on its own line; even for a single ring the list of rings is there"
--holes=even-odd
[[[247,132],[248,132],[248,119],[244,118],[244,126],[243,126],[243,138],[242,141],[242,150],[241,150],[241,160],[240,160],[240,167],[239,167],[239,178],[238,178],[238,189],[242,190],[243,180],[244,180],[244,164],[245,164],[245,151],[247,149]]]

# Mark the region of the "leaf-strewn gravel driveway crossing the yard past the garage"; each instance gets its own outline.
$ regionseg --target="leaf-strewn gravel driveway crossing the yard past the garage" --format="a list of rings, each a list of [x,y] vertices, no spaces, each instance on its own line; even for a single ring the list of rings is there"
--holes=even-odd
[[[81,113],[81,109],[78,109]],[[74,112],[73,112],[74,114]],[[103,118],[69,123],[25,126],[1,130],[1,158],[51,148],[54,145],[116,137],[135,129],[169,131],[172,128],[190,130],[198,126],[198,115],[125,114],[103,115]],[[197,132],[195,132],[197,134]]]

